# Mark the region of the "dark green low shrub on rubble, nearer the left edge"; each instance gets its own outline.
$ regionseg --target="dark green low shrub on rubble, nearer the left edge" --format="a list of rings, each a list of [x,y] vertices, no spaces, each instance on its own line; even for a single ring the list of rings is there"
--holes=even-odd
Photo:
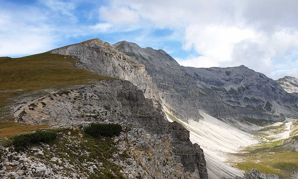
[[[25,147],[31,144],[47,143],[54,140],[57,137],[55,132],[51,131],[36,131],[30,134],[22,134],[14,136],[13,145],[16,151],[24,150]]]

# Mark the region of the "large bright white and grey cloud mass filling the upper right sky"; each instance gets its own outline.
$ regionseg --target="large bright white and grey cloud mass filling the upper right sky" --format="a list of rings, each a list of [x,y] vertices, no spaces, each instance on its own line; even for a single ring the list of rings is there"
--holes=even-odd
[[[106,14],[123,7],[131,9],[127,19],[132,19],[134,25],[145,21],[154,28],[183,29],[184,50],[194,49],[201,56],[177,59],[181,65],[244,64],[271,78],[276,78],[277,73],[287,75],[291,71],[287,69],[297,67],[296,63],[285,61],[298,51],[298,2],[128,0],[111,4],[105,8]],[[133,18],[129,18],[131,13]],[[104,17],[101,20],[113,21]],[[277,72],[280,67],[282,71]]]

